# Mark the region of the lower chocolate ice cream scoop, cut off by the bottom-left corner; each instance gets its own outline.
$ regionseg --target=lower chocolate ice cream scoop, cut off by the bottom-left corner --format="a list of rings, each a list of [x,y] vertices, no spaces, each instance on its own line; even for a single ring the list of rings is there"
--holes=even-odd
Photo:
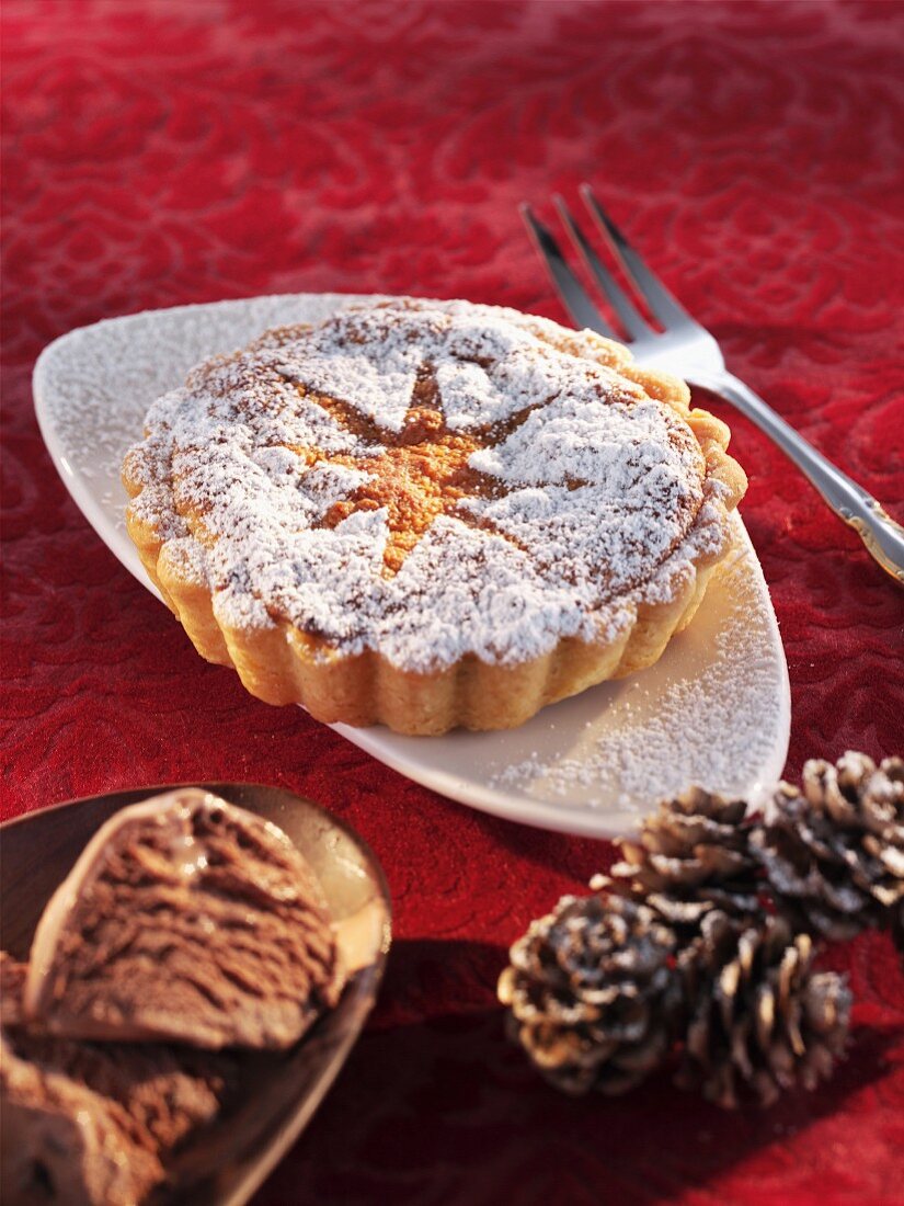
[[[2,1201],[134,1204],[211,1123],[234,1062],[160,1043],[89,1043],[22,1024],[28,968],[0,952]],[[8,1029],[6,1029],[8,1028]]]

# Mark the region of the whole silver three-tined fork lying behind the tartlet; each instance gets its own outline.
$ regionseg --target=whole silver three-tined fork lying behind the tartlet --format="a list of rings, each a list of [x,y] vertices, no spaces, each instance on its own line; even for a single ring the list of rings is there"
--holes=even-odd
[[[616,333],[569,268],[550,229],[539,222],[530,206],[524,204],[522,215],[528,230],[565,309],[577,326],[588,327],[607,339],[628,344],[639,363],[650,368],[670,369],[685,377],[689,385],[710,390],[730,402],[794,462],[835,515],[855,528],[882,569],[904,584],[904,527],[896,523],[870,493],[817,452],[812,444],[776,415],[750,386],[728,371],[714,336],[691,317],[647,268],[593,195],[589,185],[582,185],[580,192],[626,277],[663,329],[656,330],[642,317],[630,297],[603,267],[587,236],[569,213],[565,203],[560,197],[556,197],[554,204],[565,229],[622,327],[623,334]]]

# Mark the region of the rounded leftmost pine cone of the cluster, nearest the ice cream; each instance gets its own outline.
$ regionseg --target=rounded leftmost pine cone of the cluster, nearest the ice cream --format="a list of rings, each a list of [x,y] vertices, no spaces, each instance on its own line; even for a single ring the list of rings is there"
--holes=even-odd
[[[510,1037],[567,1093],[633,1088],[668,1050],[675,936],[632,901],[563,896],[499,978]]]

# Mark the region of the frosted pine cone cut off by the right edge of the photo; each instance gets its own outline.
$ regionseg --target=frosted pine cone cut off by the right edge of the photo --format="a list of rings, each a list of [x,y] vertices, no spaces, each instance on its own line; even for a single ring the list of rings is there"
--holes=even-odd
[[[904,761],[806,762],[803,794],[779,785],[751,849],[797,929],[832,941],[870,925],[904,932]]]

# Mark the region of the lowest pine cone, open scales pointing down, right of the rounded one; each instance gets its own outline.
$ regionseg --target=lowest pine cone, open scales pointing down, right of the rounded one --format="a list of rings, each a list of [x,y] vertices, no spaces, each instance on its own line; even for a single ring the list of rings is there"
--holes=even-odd
[[[844,1052],[851,994],[835,972],[812,972],[812,941],[782,918],[745,927],[723,913],[681,960],[693,1002],[677,1083],[726,1110],[782,1089],[815,1088]]]

